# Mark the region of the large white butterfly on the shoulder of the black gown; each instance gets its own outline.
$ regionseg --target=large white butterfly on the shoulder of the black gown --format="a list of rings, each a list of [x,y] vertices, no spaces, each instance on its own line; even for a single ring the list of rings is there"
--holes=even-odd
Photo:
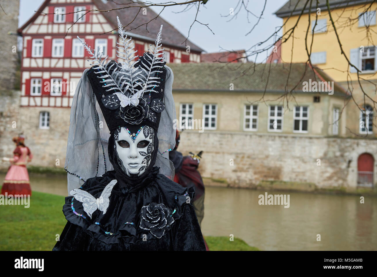
[[[90,219],[92,219],[92,213],[97,209],[106,213],[107,208],[109,207],[109,197],[111,191],[116,184],[116,180],[112,180],[102,191],[100,198],[95,198],[92,194],[75,188],[69,192],[70,195],[75,197],[76,200],[83,203],[84,211],[88,214]]]

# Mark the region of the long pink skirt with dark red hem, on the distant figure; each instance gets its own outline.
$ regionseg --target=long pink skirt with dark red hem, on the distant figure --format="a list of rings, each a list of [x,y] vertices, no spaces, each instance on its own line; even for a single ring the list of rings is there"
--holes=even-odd
[[[5,195],[26,194],[31,195],[29,174],[25,165],[11,165],[6,173],[1,194]]]

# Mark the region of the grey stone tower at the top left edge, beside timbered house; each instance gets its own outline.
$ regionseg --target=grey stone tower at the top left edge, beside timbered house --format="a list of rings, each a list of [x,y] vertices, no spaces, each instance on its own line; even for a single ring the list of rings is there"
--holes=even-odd
[[[17,67],[17,35],[8,35],[8,32],[17,33],[18,9],[20,0],[7,0],[1,2],[0,10],[0,90],[14,89],[15,73]]]

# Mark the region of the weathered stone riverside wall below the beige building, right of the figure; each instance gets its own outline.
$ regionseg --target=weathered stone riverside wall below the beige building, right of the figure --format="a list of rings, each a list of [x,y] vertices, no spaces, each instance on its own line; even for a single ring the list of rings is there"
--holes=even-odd
[[[357,158],[365,152],[375,156],[377,144],[375,139],[185,130],[178,150],[184,155],[203,150],[202,176],[235,187],[287,181],[356,188]]]

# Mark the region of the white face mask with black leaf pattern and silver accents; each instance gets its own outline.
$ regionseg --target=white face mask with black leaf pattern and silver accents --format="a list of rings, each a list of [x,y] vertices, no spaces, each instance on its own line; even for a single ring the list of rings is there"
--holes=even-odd
[[[138,134],[130,134],[126,127],[115,132],[115,151],[122,170],[130,176],[144,173],[154,150],[155,131],[144,125]]]

